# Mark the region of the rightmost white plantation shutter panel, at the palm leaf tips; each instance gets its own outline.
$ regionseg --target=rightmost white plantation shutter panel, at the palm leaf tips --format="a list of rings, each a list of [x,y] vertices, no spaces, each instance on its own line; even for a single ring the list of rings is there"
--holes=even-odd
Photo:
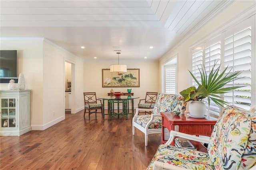
[[[240,78],[227,86],[245,86],[224,94],[224,100],[232,105],[250,109],[251,106],[251,27],[234,33],[224,40],[224,66],[233,67],[232,72],[242,71]],[[230,69],[228,69],[230,70]]]

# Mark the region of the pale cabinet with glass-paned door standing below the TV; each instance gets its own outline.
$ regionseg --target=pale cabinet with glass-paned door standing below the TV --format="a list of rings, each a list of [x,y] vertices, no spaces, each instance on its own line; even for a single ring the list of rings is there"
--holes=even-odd
[[[0,135],[20,136],[31,131],[31,90],[0,91]]]

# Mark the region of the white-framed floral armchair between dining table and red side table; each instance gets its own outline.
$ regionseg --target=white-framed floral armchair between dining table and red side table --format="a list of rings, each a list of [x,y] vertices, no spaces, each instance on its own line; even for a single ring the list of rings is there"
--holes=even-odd
[[[162,116],[161,111],[173,111],[178,107],[182,100],[177,94],[158,94],[156,104],[153,109],[137,108],[132,119],[132,134],[134,135],[135,127],[145,134],[145,146],[148,145],[148,134],[162,133]],[[138,115],[139,111],[152,112],[151,115]]]

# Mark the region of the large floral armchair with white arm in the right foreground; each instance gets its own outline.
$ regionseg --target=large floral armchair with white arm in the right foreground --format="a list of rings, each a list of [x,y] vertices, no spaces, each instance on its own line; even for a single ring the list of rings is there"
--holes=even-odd
[[[208,152],[171,146],[175,137],[208,143]],[[160,145],[147,170],[256,170],[256,113],[227,106],[207,140],[176,131]]]

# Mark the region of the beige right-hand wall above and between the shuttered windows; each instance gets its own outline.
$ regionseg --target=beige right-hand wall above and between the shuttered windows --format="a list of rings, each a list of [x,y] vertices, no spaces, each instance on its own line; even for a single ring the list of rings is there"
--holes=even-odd
[[[254,4],[254,6],[252,6]],[[190,86],[190,81],[192,77],[190,76],[188,70],[191,69],[190,63],[190,47],[195,43],[203,43],[206,38],[213,38],[214,32],[221,33],[225,29],[232,27],[233,25],[241,22],[251,16],[250,14],[246,14],[242,16],[242,13],[246,13],[248,11],[248,7],[250,9],[254,9],[255,14],[255,1],[252,0],[238,0],[234,2],[230,7],[228,7],[224,12],[220,13],[216,18],[206,24],[204,27],[196,31],[193,35],[191,35],[188,39],[184,40],[180,45],[176,48],[172,49],[167,55],[162,57],[159,62],[159,68],[162,68],[162,65],[167,61],[170,61],[172,57],[178,54],[178,83],[177,83],[177,92],[179,94],[180,91],[188,88]],[[216,33],[215,33],[216,34]],[[216,34],[217,35],[217,34]],[[216,36],[215,35],[215,36]],[[161,74],[160,76],[161,77]],[[160,82],[162,79],[160,80]],[[160,85],[162,86],[162,84]]]

